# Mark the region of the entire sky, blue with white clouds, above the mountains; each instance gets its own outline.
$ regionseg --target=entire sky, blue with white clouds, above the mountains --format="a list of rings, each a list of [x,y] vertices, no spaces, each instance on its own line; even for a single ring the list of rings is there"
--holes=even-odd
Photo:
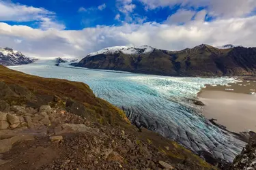
[[[256,46],[256,0],[0,0],[0,47],[83,58],[111,46]]]

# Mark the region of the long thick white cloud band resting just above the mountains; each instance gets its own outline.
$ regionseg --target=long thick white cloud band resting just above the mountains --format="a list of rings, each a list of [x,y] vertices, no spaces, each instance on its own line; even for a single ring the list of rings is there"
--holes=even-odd
[[[205,11],[201,11],[197,16],[202,18]],[[31,56],[81,58],[101,48],[128,44],[147,44],[167,50],[182,50],[199,44],[256,46],[255,30],[256,16],[214,22],[193,20],[184,25],[145,22],[123,24],[119,27],[98,26],[81,31],[32,29],[0,22],[0,46],[14,48]],[[15,39],[23,41],[17,44]]]

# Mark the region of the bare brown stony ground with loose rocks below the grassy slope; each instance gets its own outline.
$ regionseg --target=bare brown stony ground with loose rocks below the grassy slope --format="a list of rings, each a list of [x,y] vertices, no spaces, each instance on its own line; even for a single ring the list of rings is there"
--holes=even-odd
[[[197,167],[189,158],[177,163],[166,154],[173,150],[168,145],[159,150],[150,139],[141,141],[130,131],[49,105],[5,107],[0,119],[0,169],[210,168],[206,163],[205,168]]]

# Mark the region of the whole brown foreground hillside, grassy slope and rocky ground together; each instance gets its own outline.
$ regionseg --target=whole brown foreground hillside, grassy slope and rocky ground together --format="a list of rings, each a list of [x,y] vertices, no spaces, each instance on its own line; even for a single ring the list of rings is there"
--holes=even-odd
[[[0,66],[0,169],[215,169],[80,82]]]

